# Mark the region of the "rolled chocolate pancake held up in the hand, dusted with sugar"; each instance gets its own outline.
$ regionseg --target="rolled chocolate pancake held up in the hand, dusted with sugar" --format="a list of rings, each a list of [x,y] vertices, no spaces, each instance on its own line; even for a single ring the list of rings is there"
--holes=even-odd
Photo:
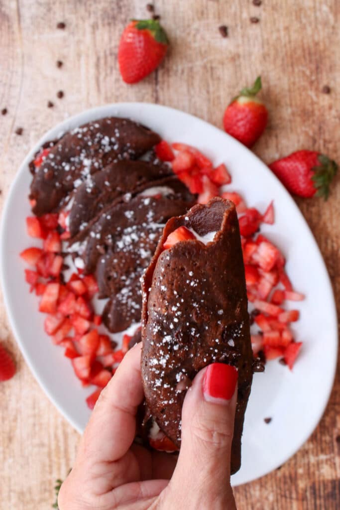
[[[179,227],[189,239],[164,249],[169,234]],[[196,205],[185,216],[170,219],[142,278],[142,291],[145,398],[156,423],[178,447],[181,406],[190,381],[214,362],[237,367],[238,403],[231,452],[231,473],[235,473],[241,465],[253,354],[233,203],[214,198],[206,206]]]

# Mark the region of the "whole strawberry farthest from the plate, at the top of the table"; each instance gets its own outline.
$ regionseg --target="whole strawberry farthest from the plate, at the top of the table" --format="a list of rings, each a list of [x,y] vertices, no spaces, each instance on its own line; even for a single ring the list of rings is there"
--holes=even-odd
[[[169,41],[159,21],[131,21],[120,38],[118,63],[125,83],[136,83],[154,71],[163,60]]]

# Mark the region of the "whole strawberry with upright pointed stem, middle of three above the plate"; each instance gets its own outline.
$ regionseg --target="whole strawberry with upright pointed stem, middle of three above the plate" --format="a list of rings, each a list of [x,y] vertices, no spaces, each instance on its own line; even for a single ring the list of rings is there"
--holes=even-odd
[[[250,89],[241,90],[224,112],[224,130],[247,147],[251,147],[256,142],[267,125],[267,108],[260,99],[255,97],[261,87],[259,76]]]

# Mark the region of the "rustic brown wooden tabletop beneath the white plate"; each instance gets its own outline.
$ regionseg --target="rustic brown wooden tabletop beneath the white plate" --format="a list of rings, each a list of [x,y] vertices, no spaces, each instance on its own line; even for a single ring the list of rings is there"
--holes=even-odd
[[[69,115],[113,101],[150,101],[221,127],[228,100],[258,74],[270,111],[254,147],[265,162],[298,148],[340,161],[340,4],[336,0],[158,0],[171,50],[158,71],[125,85],[117,44],[146,0],[5,0],[0,3],[0,200],[38,138]],[[250,21],[257,17],[258,22]],[[64,21],[64,30],[57,23]],[[229,36],[218,27],[226,24]],[[56,62],[61,60],[62,67]],[[322,89],[330,87],[330,93]],[[64,91],[62,99],[57,91]],[[54,106],[47,108],[47,101]],[[15,134],[23,128],[21,136]],[[340,307],[340,175],[328,202],[298,200],[325,258]],[[301,253],[303,257],[303,253]],[[310,275],[312,278],[312,274]],[[45,510],[54,480],[72,466],[79,435],[61,417],[22,360],[0,302],[0,338],[18,373],[1,385],[0,507]],[[320,339],[322,342],[322,338]],[[315,371],[316,377],[322,377]],[[289,410],[287,410],[289,412]],[[240,509],[340,508],[340,378],[325,416],[281,469],[235,490]]]

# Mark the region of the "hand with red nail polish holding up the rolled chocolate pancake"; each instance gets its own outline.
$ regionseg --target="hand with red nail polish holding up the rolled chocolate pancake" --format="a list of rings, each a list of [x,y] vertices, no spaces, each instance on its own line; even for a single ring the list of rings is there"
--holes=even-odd
[[[210,385],[215,377],[216,386],[214,365],[197,374],[182,408],[177,460],[133,442],[143,400],[140,357],[137,344],[101,392],[74,467],[62,484],[60,510],[236,510],[230,447],[237,378],[231,390],[230,385],[225,388],[225,377],[217,381],[222,398],[216,399]]]

